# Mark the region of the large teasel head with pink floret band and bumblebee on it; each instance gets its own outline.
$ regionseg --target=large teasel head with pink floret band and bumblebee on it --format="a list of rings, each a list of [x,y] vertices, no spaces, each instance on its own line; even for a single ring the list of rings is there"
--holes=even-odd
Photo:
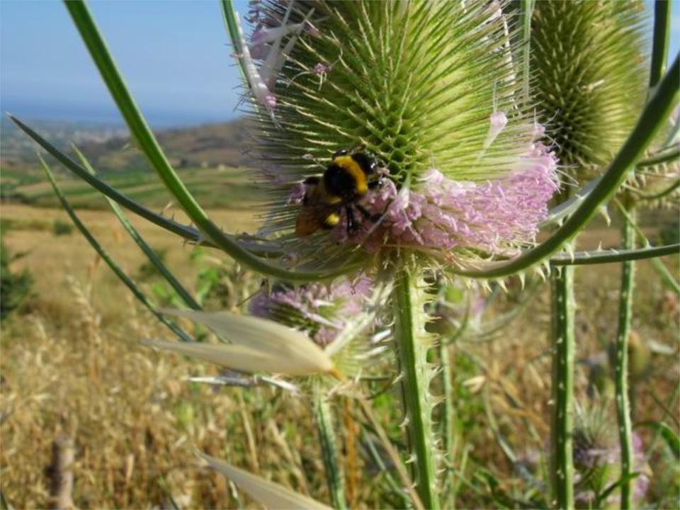
[[[259,236],[276,239],[290,266],[349,268],[396,251],[467,264],[534,242],[557,166],[539,141],[502,8],[256,4],[253,35],[240,30],[238,46],[249,152],[266,193]],[[375,169],[365,188],[355,179],[329,197],[324,171],[342,149],[375,157]],[[318,223],[305,234],[302,211]],[[321,223],[331,212],[329,231]]]

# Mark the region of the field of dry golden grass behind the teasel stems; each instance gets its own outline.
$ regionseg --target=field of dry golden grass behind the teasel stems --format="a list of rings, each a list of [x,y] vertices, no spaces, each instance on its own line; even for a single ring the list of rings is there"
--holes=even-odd
[[[4,205],[2,215],[66,220],[58,210],[14,205]],[[123,267],[135,273],[143,256],[115,218],[98,211],[81,212],[81,217]],[[247,213],[215,212],[215,217],[232,229],[254,225]],[[168,249],[169,267],[192,288],[196,266],[187,261],[191,247],[145,222],[135,224],[152,246]],[[616,236],[608,241],[616,242]],[[195,448],[327,501],[305,399],[269,387],[215,391],[186,382],[187,375],[215,373],[215,368],[140,347],[138,339],[169,337],[168,331],[140,310],[76,232],[55,237],[49,230],[12,229],[6,242],[12,251],[30,250],[17,267],[33,272],[37,294],[2,329],[0,475],[2,490],[14,506],[50,504],[45,467],[53,441],[64,434],[76,442],[73,499],[80,508],[168,507],[173,500],[182,507],[236,507],[227,482],[198,465]],[[676,260],[672,263],[677,267]],[[664,290],[649,263],[638,267],[634,329],[645,341],[677,353],[677,299]],[[580,268],[577,278],[578,356],[592,358],[613,339],[618,266]],[[517,475],[517,463],[545,451],[550,409],[546,287],[493,341],[454,348],[462,441],[458,458],[469,449],[465,476],[478,487],[475,471],[484,467],[512,492],[525,483]],[[496,312],[508,310],[510,299],[499,299]],[[636,387],[636,421],[668,421],[650,394],[666,399],[677,386],[676,361],[676,356],[652,357]],[[583,365],[577,386],[577,395],[585,398]],[[387,397],[377,402],[377,412],[392,416],[388,429],[397,436],[398,404],[395,395]],[[502,441],[515,461],[503,453]],[[645,441],[648,445],[649,435]],[[358,506],[385,506],[380,473],[363,471],[360,476]],[[497,506],[488,494],[465,488],[459,505]]]

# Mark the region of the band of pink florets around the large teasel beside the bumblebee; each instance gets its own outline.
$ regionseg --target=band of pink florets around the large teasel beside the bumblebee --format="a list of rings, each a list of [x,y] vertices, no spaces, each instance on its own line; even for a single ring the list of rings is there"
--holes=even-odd
[[[348,234],[346,215],[333,231],[340,242],[421,249],[476,248],[508,252],[534,242],[548,202],[559,188],[555,156],[540,143],[518,162],[518,168],[496,181],[454,181],[431,169],[410,189],[390,179],[370,191],[361,205],[378,222],[356,215],[356,234]],[[296,186],[289,203],[300,203],[304,186]]]

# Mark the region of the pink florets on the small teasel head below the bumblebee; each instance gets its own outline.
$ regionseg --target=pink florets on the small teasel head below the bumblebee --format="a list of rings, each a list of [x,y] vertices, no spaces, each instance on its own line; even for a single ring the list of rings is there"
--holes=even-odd
[[[366,305],[372,288],[366,277],[332,285],[311,283],[298,288],[261,292],[251,301],[250,312],[266,319],[287,319],[319,346],[327,346]]]

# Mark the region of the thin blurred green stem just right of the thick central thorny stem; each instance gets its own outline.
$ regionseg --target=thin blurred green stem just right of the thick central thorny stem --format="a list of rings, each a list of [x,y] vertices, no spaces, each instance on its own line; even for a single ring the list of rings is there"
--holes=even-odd
[[[444,444],[444,462],[446,463],[446,474],[443,480],[443,506],[444,508],[453,510],[455,508],[455,500],[453,499],[453,423],[454,423],[454,409],[453,409],[453,384],[451,373],[451,353],[450,343],[440,341],[439,343],[439,362],[441,363],[441,386],[443,389],[443,409],[441,411],[441,433]]]

